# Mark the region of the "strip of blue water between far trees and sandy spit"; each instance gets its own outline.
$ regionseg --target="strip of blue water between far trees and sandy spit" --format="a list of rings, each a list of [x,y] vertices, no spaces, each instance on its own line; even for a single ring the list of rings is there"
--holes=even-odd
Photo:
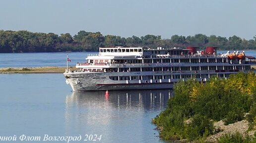
[[[87,54],[98,52],[37,52],[0,53],[0,67],[41,67],[66,66],[66,55],[71,59],[70,66],[84,62]]]

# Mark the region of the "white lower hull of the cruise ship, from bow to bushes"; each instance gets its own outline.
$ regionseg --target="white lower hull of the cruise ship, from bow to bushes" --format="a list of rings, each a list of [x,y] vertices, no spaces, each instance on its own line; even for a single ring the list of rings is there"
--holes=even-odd
[[[140,81],[113,81],[108,76],[95,76],[90,73],[72,74],[64,73],[66,83],[73,91],[106,91],[106,90],[148,90],[148,89],[172,89],[174,82],[170,80],[146,80]]]

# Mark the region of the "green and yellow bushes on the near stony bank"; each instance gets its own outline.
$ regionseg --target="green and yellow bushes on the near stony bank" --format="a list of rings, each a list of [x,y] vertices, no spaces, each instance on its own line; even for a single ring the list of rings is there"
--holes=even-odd
[[[238,73],[206,83],[192,79],[175,85],[167,109],[152,120],[164,140],[223,143],[229,138],[255,139],[256,74]],[[249,137],[250,135],[252,137]],[[228,136],[239,133],[240,135]],[[227,136],[225,136],[227,135]],[[247,143],[247,142],[229,143]],[[240,140],[240,139],[238,139]],[[247,140],[247,139],[245,139]]]

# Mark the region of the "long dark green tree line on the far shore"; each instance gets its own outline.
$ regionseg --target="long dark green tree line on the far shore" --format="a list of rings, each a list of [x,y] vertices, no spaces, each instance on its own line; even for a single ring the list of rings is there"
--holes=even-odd
[[[232,36],[173,35],[170,39],[161,36],[145,35],[128,38],[115,35],[102,35],[100,32],[79,31],[71,36],[69,33],[33,33],[26,30],[0,30],[0,52],[56,52],[56,51],[98,51],[99,47],[205,47],[215,46],[222,50],[256,50],[256,36],[251,40]]]

